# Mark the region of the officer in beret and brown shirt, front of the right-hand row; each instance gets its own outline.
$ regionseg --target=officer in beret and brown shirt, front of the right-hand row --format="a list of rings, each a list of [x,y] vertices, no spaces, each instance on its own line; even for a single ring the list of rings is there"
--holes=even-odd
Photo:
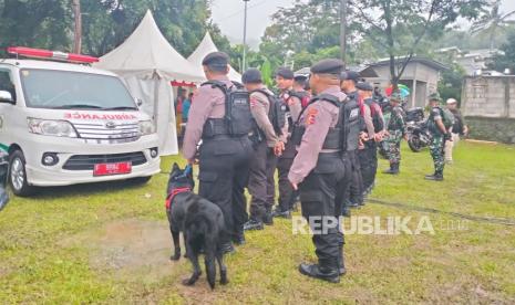
[[[340,215],[336,198],[341,197],[339,191],[343,189],[346,175],[340,137],[343,127],[339,120],[340,103],[346,98],[339,87],[342,67],[340,60],[323,60],[311,67],[310,86],[318,96],[302,112],[293,130],[298,154],[288,175],[293,189],[300,189],[302,215],[313,230],[318,256],[317,264],[300,264],[299,271],[332,283],[338,283],[340,274],[346,272],[343,234],[337,225],[328,225],[329,220],[336,221]],[[322,223],[321,228],[317,221]]]

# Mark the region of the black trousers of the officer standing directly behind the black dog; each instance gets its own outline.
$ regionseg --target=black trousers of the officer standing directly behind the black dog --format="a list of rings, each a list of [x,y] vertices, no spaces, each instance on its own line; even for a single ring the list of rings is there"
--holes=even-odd
[[[248,219],[245,188],[253,147],[247,137],[223,136],[205,139],[199,152],[198,193],[222,209],[229,233],[223,242],[229,242]]]

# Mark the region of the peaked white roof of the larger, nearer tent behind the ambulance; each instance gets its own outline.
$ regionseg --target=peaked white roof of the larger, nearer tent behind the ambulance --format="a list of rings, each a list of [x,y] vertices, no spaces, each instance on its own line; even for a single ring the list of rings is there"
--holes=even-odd
[[[202,82],[204,73],[184,59],[163,36],[148,10],[136,30],[95,64],[119,74],[157,73],[171,81]]]

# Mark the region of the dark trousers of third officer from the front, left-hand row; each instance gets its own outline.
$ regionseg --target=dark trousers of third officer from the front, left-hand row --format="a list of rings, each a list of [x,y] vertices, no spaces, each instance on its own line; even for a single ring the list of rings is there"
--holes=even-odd
[[[286,144],[285,151],[277,162],[277,171],[279,177],[279,209],[287,211],[291,209],[297,197],[297,192],[291,187],[288,180],[288,173],[290,172],[291,165],[293,164],[295,156],[297,155],[297,148],[295,144],[289,140]]]

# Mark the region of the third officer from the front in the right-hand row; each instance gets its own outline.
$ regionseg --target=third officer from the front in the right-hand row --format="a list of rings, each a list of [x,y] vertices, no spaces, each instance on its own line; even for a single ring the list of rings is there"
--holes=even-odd
[[[364,193],[368,194],[372,191],[375,172],[378,170],[378,146],[377,143],[381,141],[384,133],[384,118],[382,115],[381,106],[375,103],[372,95],[372,85],[369,83],[358,83],[356,87],[359,91],[360,98],[363,101],[364,106],[370,112],[372,130],[367,125],[368,134],[363,141],[363,149],[359,150],[359,159],[361,166],[361,173],[363,176]]]

